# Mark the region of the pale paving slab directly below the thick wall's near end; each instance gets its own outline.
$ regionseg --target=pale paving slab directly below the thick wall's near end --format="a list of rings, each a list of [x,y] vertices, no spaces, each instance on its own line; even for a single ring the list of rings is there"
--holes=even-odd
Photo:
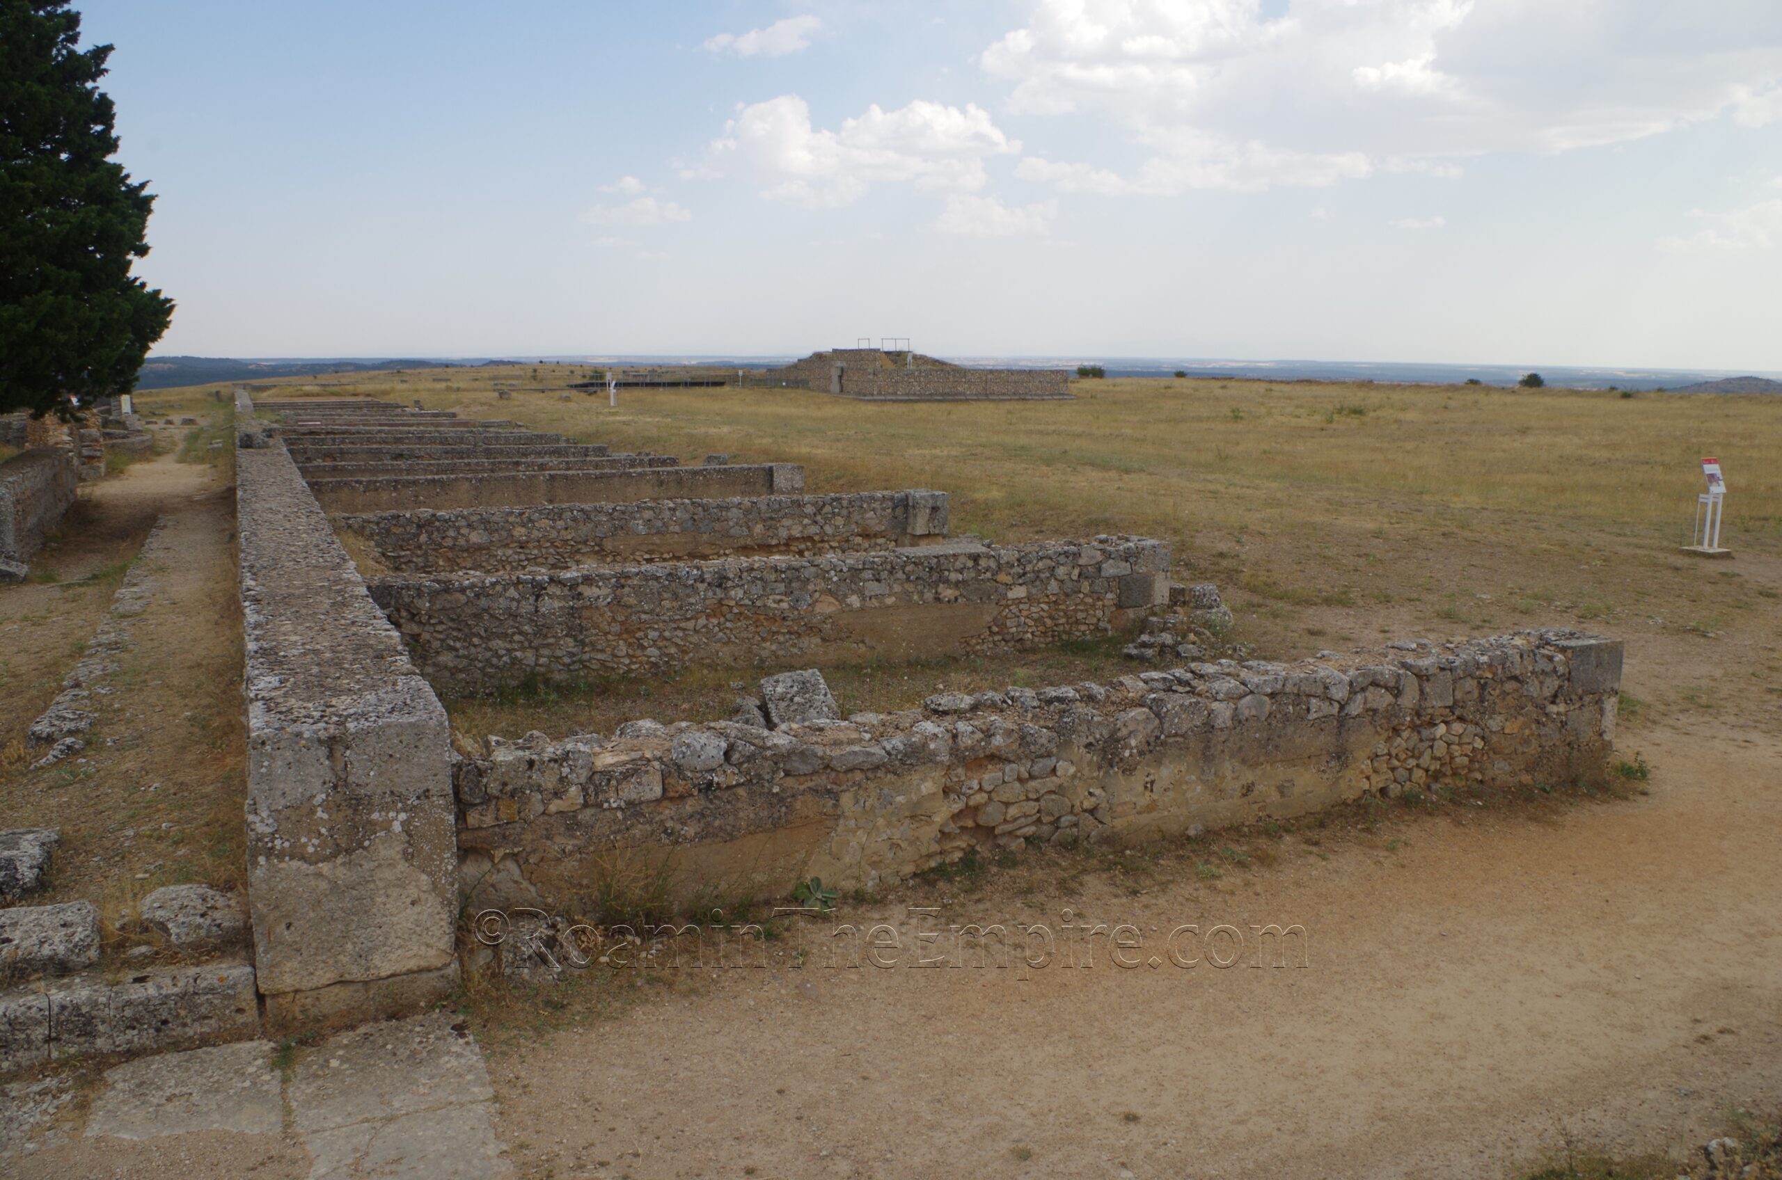
[[[503,1180],[483,1053],[446,1014],[342,1032],[298,1062],[290,1110],[310,1180]]]

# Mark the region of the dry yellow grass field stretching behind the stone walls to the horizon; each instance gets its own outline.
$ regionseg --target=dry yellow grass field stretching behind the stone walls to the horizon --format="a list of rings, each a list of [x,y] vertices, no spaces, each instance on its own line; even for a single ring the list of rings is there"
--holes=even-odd
[[[604,394],[561,401],[560,387],[584,374],[524,365],[287,389],[421,399],[683,462],[711,451],[798,462],[811,490],[939,488],[955,533],[1000,542],[1160,537],[1176,549],[1178,579],[1219,583],[1238,619],[1233,638],[1260,656],[1586,626],[1661,643],[1688,668],[1655,677],[1631,663],[1629,692],[1650,708],[1782,717],[1777,399],[1094,380],[1075,383],[1073,403],[864,405],[802,390],[620,390],[617,410]],[[499,401],[497,381],[542,389]],[[1702,455],[1727,469],[1734,561],[1677,551]],[[1112,652],[832,679],[845,706],[889,708],[937,686],[1107,674]],[[606,731],[625,717],[727,711],[727,686],[745,676],[720,668],[453,711],[470,733]],[[1729,681],[1757,692],[1727,693]]]

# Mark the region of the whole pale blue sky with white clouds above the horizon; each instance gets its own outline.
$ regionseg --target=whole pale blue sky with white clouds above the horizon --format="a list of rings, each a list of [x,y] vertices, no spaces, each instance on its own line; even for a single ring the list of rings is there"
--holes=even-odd
[[[157,353],[1782,369],[1778,0],[75,0]]]

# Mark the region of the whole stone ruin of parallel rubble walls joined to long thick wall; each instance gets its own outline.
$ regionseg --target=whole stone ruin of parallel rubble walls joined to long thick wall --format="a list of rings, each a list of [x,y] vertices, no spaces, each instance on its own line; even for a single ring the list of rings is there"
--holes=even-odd
[[[615,861],[870,888],[971,850],[1588,779],[1613,743],[1620,643],[1597,636],[1206,661],[1230,613],[1155,540],[989,545],[936,490],[807,492],[793,465],[369,399],[260,408],[283,421],[242,430],[237,506],[274,1028],[424,1004],[463,904],[565,902]],[[843,717],[820,672],[1126,633],[1132,676],[886,715]],[[699,663],[766,676],[725,720],[613,734],[453,734],[438,701]]]

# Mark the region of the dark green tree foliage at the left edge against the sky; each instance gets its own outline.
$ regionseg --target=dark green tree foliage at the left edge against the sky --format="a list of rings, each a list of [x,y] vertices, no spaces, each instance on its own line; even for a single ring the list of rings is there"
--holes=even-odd
[[[155,203],[109,157],[109,45],[68,0],[0,0],[0,412],[135,383],[173,301],[130,276]]]

